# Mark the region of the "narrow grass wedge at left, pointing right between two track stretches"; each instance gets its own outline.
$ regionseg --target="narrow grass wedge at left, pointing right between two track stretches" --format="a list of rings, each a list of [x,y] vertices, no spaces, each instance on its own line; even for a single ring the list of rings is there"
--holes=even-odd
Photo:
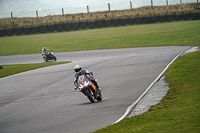
[[[64,61],[64,62],[45,62],[45,63],[34,63],[34,64],[2,65],[3,69],[0,69],[0,78],[41,67],[65,64],[65,63],[69,62]]]

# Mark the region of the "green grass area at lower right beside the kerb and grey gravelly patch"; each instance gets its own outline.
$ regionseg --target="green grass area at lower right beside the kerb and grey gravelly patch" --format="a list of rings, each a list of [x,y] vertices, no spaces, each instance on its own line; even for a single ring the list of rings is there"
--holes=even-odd
[[[199,133],[200,51],[180,57],[166,75],[170,89],[147,113],[95,133]]]

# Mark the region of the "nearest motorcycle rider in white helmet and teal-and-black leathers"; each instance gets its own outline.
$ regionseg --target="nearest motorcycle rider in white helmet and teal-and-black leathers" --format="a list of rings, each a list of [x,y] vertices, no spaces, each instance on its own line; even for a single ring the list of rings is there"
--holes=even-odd
[[[88,71],[86,69],[83,69],[82,66],[80,66],[80,65],[75,65],[74,71],[75,71],[74,85],[76,86],[75,89],[78,88],[78,83],[77,83],[78,77],[81,76],[81,75],[84,75],[84,74],[89,74],[90,75],[90,81],[96,86],[98,91],[101,91],[101,88],[99,87],[99,85],[97,84],[97,81],[93,77],[93,73],[92,72],[90,72],[90,71]]]

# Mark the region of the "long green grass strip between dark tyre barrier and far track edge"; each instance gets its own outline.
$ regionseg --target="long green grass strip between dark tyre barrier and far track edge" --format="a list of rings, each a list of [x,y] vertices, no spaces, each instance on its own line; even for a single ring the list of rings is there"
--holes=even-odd
[[[86,29],[0,38],[0,56],[155,46],[198,46],[200,20]]]

